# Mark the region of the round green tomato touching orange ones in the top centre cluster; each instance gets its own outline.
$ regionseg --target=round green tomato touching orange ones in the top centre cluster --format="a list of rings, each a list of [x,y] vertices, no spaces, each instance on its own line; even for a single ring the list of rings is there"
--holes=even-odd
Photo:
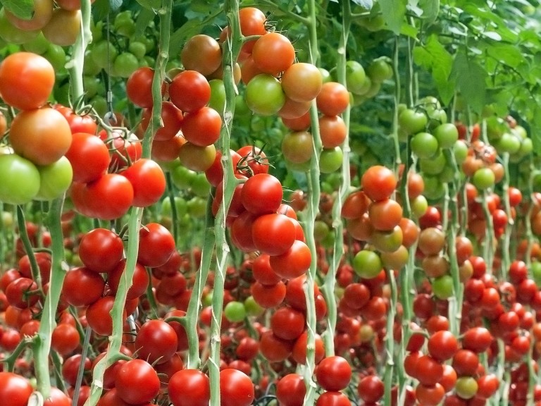
[[[285,93],[280,81],[272,75],[256,75],[246,86],[246,104],[261,116],[273,116],[285,103]]]

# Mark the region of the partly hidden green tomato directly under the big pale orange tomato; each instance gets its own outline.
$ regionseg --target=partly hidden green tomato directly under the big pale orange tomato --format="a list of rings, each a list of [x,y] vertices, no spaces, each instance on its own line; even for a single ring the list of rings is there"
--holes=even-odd
[[[52,200],[61,197],[73,179],[73,168],[66,156],[61,156],[58,161],[50,165],[38,166],[40,183],[39,192],[35,199]]]

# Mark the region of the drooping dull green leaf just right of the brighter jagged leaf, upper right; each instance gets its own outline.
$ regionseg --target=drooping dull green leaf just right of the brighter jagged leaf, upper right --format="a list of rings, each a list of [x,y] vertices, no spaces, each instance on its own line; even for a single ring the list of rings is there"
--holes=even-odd
[[[486,99],[487,71],[477,62],[469,59],[464,52],[459,52],[454,58],[453,68],[449,78],[456,80],[456,86],[473,111],[483,111]]]

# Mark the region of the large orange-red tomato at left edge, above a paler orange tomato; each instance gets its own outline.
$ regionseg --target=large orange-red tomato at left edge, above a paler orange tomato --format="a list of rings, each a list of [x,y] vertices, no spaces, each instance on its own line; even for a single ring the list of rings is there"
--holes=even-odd
[[[0,95],[15,109],[43,106],[54,86],[54,68],[43,56],[15,52],[0,63]]]

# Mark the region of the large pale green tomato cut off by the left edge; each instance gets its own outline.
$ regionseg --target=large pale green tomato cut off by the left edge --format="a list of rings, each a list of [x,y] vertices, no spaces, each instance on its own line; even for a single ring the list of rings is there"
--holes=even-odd
[[[39,171],[17,154],[0,155],[0,201],[25,204],[39,192]]]

